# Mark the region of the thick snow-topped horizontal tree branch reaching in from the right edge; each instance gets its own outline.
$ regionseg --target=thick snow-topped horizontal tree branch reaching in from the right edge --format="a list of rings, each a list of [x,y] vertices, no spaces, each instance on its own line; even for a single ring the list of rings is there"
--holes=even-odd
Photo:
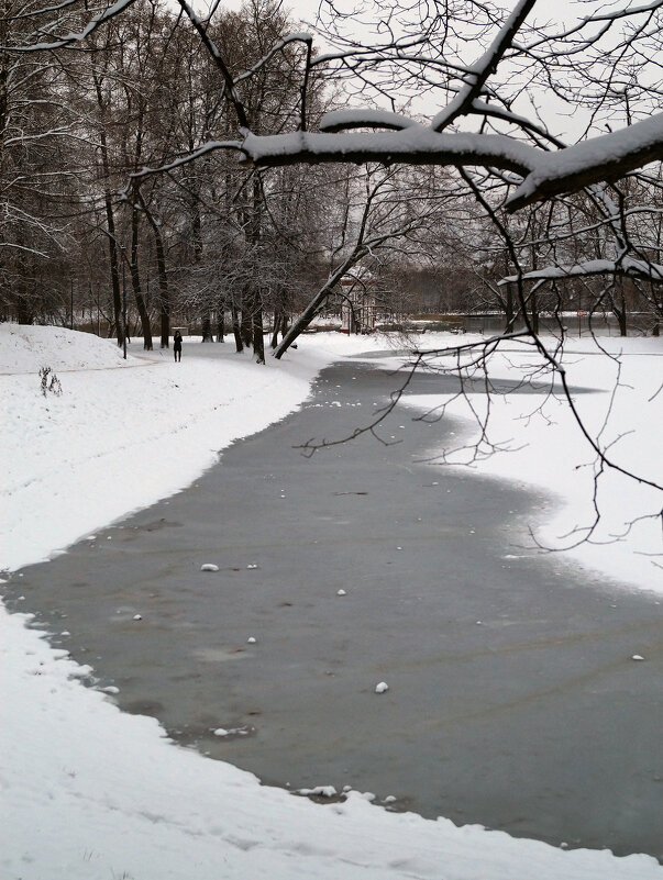
[[[382,126],[391,131],[339,132]],[[376,161],[386,166],[478,166],[513,171],[524,178],[507,199],[517,211],[553,196],[615,180],[651,161],[663,159],[663,113],[618,132],[557,151],[545,151],[500,134],[434,132],[407,116],[386,111],[338,111],[323,116],[321,132],[256,135],[242,129],[242,141],[210,141],[194,153],[134,177],[172,170],[216,149],[243,154],[241,164],[255,168],[325,163]]]

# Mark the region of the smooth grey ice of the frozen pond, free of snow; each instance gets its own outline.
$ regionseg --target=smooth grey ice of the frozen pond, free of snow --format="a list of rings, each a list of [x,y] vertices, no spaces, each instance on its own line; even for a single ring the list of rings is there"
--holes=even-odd
[[[397,411],[397,445],[294,448],[351,433],[394,383],[327,369],[302,412],[24,569],[8,605],[123,709],[265,782],[661,857],[661,606],[519,549],[546,500],[422,464],[440,425]]]

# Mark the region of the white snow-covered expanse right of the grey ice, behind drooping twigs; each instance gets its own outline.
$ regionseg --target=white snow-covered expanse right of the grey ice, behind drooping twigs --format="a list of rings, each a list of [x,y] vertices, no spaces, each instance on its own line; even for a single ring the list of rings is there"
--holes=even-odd
[[[464,336],[463,343],[472,338]],[[652,337],[601,338],[600,346],[610,357],[590,338],[566,341],[567,379],[582,389],[574,396],[576,409],[615,464],[661,486],[663,343]],[[495,381],[515,379],[537,366],[531,350],[511,344],[490,359],[489,376]],[[535,375],[533,381],[544,388]],[[445,408],[446,415],[462,420],[453,445],[430,449],[433,459],[442,455],[447,463],[471,463],[469,468],[483,476],[544,490],[531,525],[543,547],[564,550],[557,561],[663,592],[661,491],[608,467],[600,472],[559,386],[553,396],[494,394],[487,439],[501,452],[493,454],[482,441],[477,461],[472,459],[487,412],[484,396],[408,397],[404,403],[429,413],[426,417],[435,417]],[[592,528],[597,511],[600,520]],[[517,542],[515,554],[540,552],[534,539]]]

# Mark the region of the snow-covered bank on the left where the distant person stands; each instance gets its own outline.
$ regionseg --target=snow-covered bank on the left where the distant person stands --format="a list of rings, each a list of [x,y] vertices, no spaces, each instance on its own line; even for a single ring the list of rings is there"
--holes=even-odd
[[[0,374],[13,374],[0,376],[0,569],[45,559],[185,488],[233,441],[296,409],[317,371],[357,345],[366,342],[338,335],[264,369],[234,345],[189,341],[180,364],[136,344],[140,357],[124,361],[111,341],[0,324]],[[62,397],[40,393],[42,366],[58,375]]]

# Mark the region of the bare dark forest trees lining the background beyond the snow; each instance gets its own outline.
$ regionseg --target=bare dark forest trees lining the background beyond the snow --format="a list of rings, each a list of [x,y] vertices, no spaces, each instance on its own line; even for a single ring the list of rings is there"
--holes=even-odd
[[[167,346],[185,323],[206,339],[234,334],[262,360],[265,334],[275,345],[307,303],[311,320],[338,311],[350,276],[387,324],[497,310],[507,328],[523,311],[537,327],[542,312],[585,309],[612,313],[625,333],[638,312],[639,326],[658,332],[651,271],[606,281],[600,264],[620,235],[644,263],[660,260],[660,170],[623,181],[616,230],[606,201],[584,190],[496,222],[499,175],[477,193],[463,170],[416,164],[244,167],[233,152],[203,148],[235,137],[237,120],[188,19],[137,0],[74,48],[40,49],[42,12],[2,2],[1,320],[90,328],[119,344],[126,327],[146,348]],[[67,27],[82,30],[87,4],[67,14]],[[272,49],[299,27],[274,0],[206,25],[256,135],[297,123],[306,44]],[[306,102],[314,126],[347,92],[321,64],[307,74]],[[596,271],[576,276],[550,269],[593,260]],[[517,297],[509,278],[528,275]]]

